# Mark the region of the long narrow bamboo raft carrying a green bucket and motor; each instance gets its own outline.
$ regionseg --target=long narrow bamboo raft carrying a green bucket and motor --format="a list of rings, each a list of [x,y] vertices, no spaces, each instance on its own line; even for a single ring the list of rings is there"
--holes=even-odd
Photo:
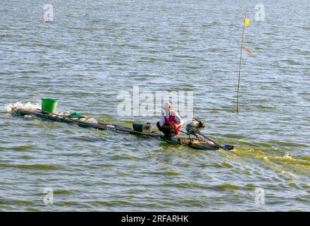
[[[51,121],[57,121],[67,124],[76,124],[77,126],[81,126],[84,128],[93,128],[99,130],[110,130],[119,133],[130,133],[135,134],[137,136],[149,136],[158,138],[162,141],[166,141],[172,144],[180,144],[180,145],[187,145],[191,148],[199,148],[203,150],[218,150],[218,146],[212,143],[211,141],[207,141],[204,138],[182,138],[182,137],[175,137],[175,138],[166,138],[161,133],[156,133],[152,131],[151,133],[144,133],[140,131],[135,131],[129,127],[119,126],[116,124],[106,124],[102,122],[91,123],[87,121],[82,121],[80,119],[72,119],[69,118],[67,115],[62,114],[52,114],[52,113],[42,113],[40,109],[35,111],[27,111],[23,109],[13,109],[13,112],[18,116],[25,116],[25,115],[33,115],[42,119],[49,119]],[[223,145],[227,150],[232,150],[234,147],[231,145]]]

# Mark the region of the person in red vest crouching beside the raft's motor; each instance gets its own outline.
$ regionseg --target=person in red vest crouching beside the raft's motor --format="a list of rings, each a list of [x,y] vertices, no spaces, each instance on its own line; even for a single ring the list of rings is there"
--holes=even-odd
[[[178,112],[172,110],[171,103],[166,102],[165,105],[163,105],[163,109],[165,109],[165,114],[161,115],[161,121],[157,121],[157,128],[168,138],[178,136],[181,131],[183,120]]]

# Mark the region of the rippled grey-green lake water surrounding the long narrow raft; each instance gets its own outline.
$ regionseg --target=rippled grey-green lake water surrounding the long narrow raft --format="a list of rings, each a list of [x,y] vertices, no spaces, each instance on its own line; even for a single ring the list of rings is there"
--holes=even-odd
[[[0,210],[310,210],[310,1],[55,0],[52,22],[44,4],[0,3]],[[236,114],[246,7],[244,46],[256,55],[243,52]],[[192,91],[204,134],[235,150],[5,112],[54,97],[58,110],[154,125],[117,114],[133,85]]]

